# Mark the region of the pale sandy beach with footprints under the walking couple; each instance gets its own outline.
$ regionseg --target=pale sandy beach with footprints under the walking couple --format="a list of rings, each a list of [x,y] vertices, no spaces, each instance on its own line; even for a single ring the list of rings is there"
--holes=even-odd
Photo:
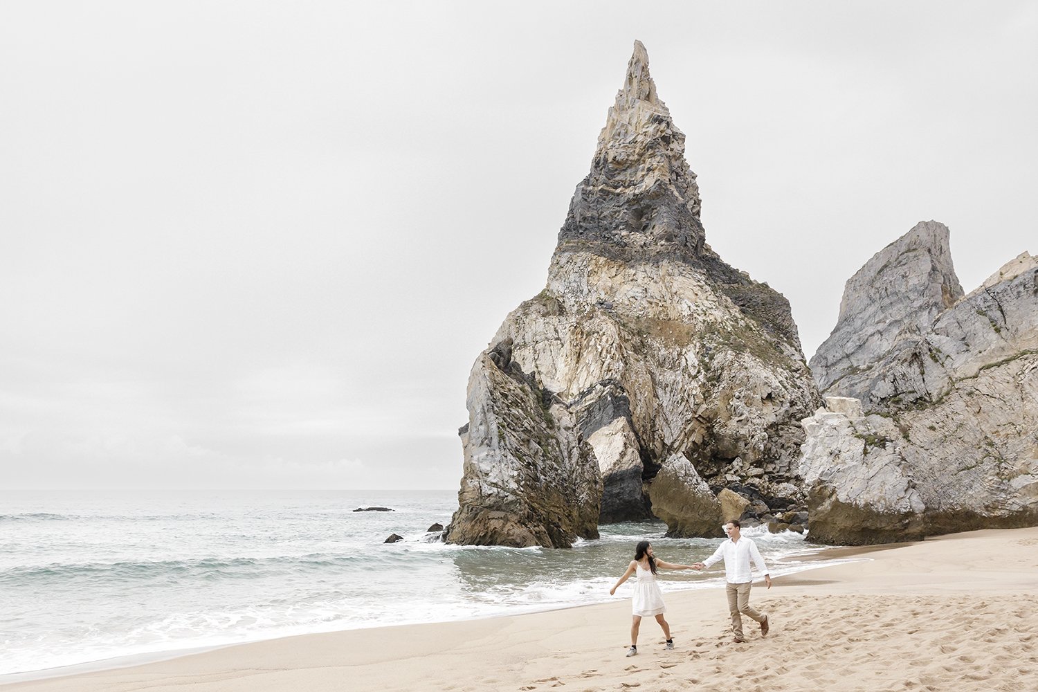
[[[771,631],[744,620],[741,644],[722,591],[682,591],[666,597],[675,651],[647,618],[639,655],[625,658],[630,599],[618,591],[602,605],[305,635],[4,689],[1038,690],[1038,528],[846,556],[858,561],[755,586]]]

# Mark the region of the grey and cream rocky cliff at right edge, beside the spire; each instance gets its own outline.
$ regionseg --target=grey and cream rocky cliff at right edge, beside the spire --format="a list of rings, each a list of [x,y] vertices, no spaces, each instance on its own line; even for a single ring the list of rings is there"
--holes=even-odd
[[[968,296],[958,285],[933,222],[847,282],[812,358],[829,396],[803,421],[811,538],[1038,524],[1038,259],[1021,254]]]

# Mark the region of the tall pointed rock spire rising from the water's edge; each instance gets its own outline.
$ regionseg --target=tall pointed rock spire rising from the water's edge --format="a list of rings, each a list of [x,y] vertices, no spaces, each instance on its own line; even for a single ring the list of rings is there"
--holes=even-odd
[[[796,326],[706,244],[684,141],[636,43],[545,289],[473,365],[449,542],[567,546],[591,515],[651,513],[718,535],[723,487],[802,500],[798,421],[820,399]]]

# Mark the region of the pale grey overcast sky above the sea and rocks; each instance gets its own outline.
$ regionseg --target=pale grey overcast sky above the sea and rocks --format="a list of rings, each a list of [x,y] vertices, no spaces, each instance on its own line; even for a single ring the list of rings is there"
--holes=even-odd
[[[0,4],[0,490],[443,488],[634,39],[792,303],[1038,253],[1031,2]]]

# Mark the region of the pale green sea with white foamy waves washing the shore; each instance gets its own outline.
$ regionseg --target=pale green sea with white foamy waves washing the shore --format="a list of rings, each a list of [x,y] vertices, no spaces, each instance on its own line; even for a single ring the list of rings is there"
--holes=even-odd
[[[392,511],[354,511],[384,506]],[[20,492],[0,495],[0,684],[315,632],[458,620],[630,598],[638,541],[691,563],[719,538],[662,522],[572,549],[452,546],[456,491]],[[403,541],[387,544],[397,533]],[[750,528],[772,575],[845,560]],[[661,571],[664,591],[723,572]],[[618,631],[627,627],[618,622]],[[625,630],[624,630],[625,631]]]

